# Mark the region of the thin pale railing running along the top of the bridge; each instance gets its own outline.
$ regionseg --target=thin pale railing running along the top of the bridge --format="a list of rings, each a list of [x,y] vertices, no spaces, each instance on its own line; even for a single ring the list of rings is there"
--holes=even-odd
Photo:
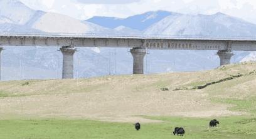
[[[166,35],[166,34],[122,34],[122,33],[36,33],[36,32],[0,32],[0,36],[35,36],[58,38],[131,38],[131,39],[199,39],[256,41],[256,36],[202,36],[202,35]]]

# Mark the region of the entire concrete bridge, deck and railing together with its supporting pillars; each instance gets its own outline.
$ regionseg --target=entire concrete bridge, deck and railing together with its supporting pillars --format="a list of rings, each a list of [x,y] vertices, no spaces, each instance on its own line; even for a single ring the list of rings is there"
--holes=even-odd
[[[0,46],[0,54],[3,46],[60,46],[63,54],[62,78],[73,78],[76,47],[131,48],[133,73],[143,74],[146,49],[215,50],[218,51],[220,65],[223,65],[230,64],[232,51],[256,51],[256,38],[0,33]]]

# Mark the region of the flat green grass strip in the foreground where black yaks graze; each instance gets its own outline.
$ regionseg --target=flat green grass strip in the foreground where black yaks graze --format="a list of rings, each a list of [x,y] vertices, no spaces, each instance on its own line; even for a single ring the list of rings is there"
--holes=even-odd
[[[151,117],[152,118],[152,117]],[[146,123],[136,131],[131,123],[87,120],[1,120],[0,138],[255,138],[256,118],[220,118],[217,128],[208,128],[210,118],[154,117],[163,123]],[[183,126],[184,136],[174,136],[175,126]]]

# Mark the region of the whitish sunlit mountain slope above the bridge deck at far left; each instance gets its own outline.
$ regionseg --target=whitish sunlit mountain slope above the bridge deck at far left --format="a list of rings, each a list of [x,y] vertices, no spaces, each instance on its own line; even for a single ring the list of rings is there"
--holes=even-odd
[[[0,1],[0,31],[17,33],[111,33],[97,24],[81,22],[69,16],[28,8],[18,0]]]

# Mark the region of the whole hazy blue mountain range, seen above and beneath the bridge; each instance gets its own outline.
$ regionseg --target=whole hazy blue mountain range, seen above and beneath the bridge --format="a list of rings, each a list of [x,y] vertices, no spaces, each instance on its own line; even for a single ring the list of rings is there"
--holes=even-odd
[[[189,15],[149,11],[128,18],[93,17],[80,21],[29,8],[18,0],[0,1],[0,31],[11,33],[100,33],[189,36],[255,36],[256,25],[223,13]],[[60,78],[61,53],[50,47],[4,47],[2,80]],[[216,51],[148,50],[146,73],[209,70],[219,65]],[[256,60],[237,51],[232,62]],[[129,49],[78,48],[75,76],[80,78],[132,73]]]

